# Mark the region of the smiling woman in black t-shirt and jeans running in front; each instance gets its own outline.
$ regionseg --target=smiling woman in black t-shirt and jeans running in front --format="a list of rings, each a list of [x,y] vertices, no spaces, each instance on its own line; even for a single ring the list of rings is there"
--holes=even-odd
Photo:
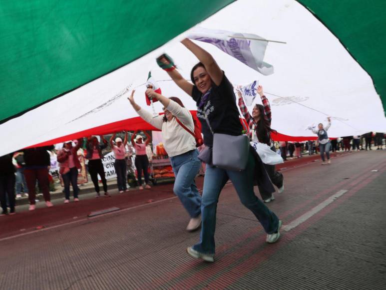
[[[233,92],[233,85],[225,76],[224,71],[220,69],[211,54],[191,40],[185,38],[181,43],[200,60],[191,71],[194,85],[184,79],[175,69],[173,60],[168,55],[161,55],[157,62],[168,72],[174,82],[196,101],[197,116],[202,125],[205,145],[209,147],[213,145],[213,135],[206,119],[214,133],[241,135],[242,125],[236,106],[236,96]],[[200,242],[187,248],[191,256],[214,261],[217,202],[221,189],[228,179],[232,180],[241,202],[255,214],[263,225],[267,232],[266,241],[271,243],[278,240],[281,220],[253,192],[254,166],[255,160],[251,152],[247,167],[243,171],[226,170],[208,164],[202,193]]]

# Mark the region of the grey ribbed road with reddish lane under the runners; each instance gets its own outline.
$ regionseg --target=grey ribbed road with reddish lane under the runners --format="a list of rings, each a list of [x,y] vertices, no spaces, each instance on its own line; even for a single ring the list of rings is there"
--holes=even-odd
[[[0,217],[1,288],[384,289],[386,152],[346,153],[329,166],[282,172],[286,190],[268,203],[284,223],[280,240],[265,242],[227,184],[214,263],[185,252],[199,232],[185,231],[189,216],[171,184]],[[98,206],[121,210],[87,218]],[[39,216],[46,220],[40,230],[3,227],[32,225]]]

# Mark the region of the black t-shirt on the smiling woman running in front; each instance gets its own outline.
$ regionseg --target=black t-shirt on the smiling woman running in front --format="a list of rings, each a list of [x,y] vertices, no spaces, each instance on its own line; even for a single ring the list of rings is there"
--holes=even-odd
[[[208,116],[210,126],[214,133],[222,133],[233,136],[242,134],[243,127],[239,119],[239,110],[236,106],[236,96],[233,85],[228,78],[223,76],[220,85],[212,84],[212,90],[200,107],[203,93],[193,86],[192,97],[197,104],[197,117],[201,122],[204,143],[207,146],[213,145],[213,135],[206,123],[205,113]]]

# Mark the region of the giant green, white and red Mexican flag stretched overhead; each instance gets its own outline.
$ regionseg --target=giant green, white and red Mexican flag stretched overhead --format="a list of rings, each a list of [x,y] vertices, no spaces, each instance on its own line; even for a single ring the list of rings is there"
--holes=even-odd
[[[189,79],[197,59],[179,40],[196,24],[274,40],[264,41],[264,63],[274,68],[266,74],[197,43],[235,86],[254,80],[264,86],[282,138],[309,139],[305,128],[327,116],[330,136],[386,131],[383,0],[2,0],[0,8],[0,155],[151,129],[126,99],[135,88],[138,103],[150,109],[144,97],[150,70],[164,95],[179,96],[194,111],[155,58],[168,53]]]

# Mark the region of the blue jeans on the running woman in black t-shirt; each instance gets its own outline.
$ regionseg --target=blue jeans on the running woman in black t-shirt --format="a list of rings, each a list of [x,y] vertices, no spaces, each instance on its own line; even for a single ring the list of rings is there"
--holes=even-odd
[[[247,168],[243,171],[226,170],[207,165],[204,190],[202,193],[201,217],[202,228],[200,242],[193,248],[202,253],[214,254],[214,232],[216,229],[216,209],[221,189],[228,179],[239,195],[241,203],[255,214],[267,233],[278,229],[279,219],[253,192],[253,174],[255,160],[249,153]]]

